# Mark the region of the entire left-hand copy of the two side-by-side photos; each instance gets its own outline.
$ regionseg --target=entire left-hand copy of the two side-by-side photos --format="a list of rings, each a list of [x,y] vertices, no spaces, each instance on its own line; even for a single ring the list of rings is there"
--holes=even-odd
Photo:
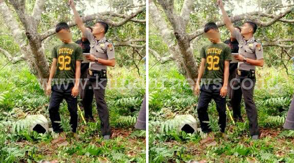
[[[145,4],[0,0],[0,162],[146,162]]]

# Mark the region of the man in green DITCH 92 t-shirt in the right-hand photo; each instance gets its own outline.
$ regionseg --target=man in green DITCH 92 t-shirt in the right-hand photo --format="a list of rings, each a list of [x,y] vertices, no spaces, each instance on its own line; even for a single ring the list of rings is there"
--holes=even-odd
[[[207,138],[200,142],[202,144],[214,141],[214,135],[208,125],[209,117],[207,113],[211,99],[214,99],[216,103],[220,131],[225,132],[227,119],[226,95],[231,61],[231,49],[227,44],[220,41],[217,25],[214,22],[205,24],[204,32],[204,36],[209,38],[211,43],[201,48],[201,65],[197,83],[194,87],[196,95],[199,95],[201,90],[197,106],[201,130],[208,133]],[[200,80],[202,82],[201,87]]]

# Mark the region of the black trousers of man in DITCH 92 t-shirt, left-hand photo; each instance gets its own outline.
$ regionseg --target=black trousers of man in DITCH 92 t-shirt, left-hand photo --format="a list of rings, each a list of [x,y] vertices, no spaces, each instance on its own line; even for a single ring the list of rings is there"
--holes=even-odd
[[[69,84],[66,88],[64,85],[53,85],[52,86],[52,95],[50,98],[50,104],[48,107],[50,119],[52,122],[53,131],[56,133],[62,132],[60,127],[60,115],[59,115],[59,106],[63,99],[67,102],[67,108],[70,114],[69,124],[71,125],[72,132],[77,132],[78,126],[78,108],[77,98],[71,96],[71,90],[74,87],[74,84]]]

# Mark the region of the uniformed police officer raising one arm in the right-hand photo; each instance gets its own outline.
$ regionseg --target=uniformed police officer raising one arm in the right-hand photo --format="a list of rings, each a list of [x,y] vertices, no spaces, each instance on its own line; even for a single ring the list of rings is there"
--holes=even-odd
[[[236,108],[241,107],[240,94],[243,94],[246,113],[250,122],[250,134],[252,139],[257,140],[259,138],[259,127],[257,122],[257,110],[253,100],[254,86],[256,83],[255,67],[262,67],[264,63],[262,45],[257,42],[253,36],[257,30],[257,25],[252,21],[246,21],[241,27],[241,32],[235,30],[224,9],[222,0],[217,0],[217,4],[222,10],[227,28],[239,43],[239,55],[235,56],[235,59],[238,60],[239,63],[236,78],[233,82],[232,107],[233,110],[238,110]]]

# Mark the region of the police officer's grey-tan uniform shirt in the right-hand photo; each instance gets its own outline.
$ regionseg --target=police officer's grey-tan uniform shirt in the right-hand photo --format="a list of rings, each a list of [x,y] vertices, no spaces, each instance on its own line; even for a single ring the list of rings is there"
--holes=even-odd
[[[236,38],[239,43],[239,55],[253,60],[263,59],[262,45],[261,43],[257,42],[254,37],[246,41],[238,30],[234,30],[232,36]],[[250,71],[255,70],[255,66],[249,63],[239,62],[238,69]]]

